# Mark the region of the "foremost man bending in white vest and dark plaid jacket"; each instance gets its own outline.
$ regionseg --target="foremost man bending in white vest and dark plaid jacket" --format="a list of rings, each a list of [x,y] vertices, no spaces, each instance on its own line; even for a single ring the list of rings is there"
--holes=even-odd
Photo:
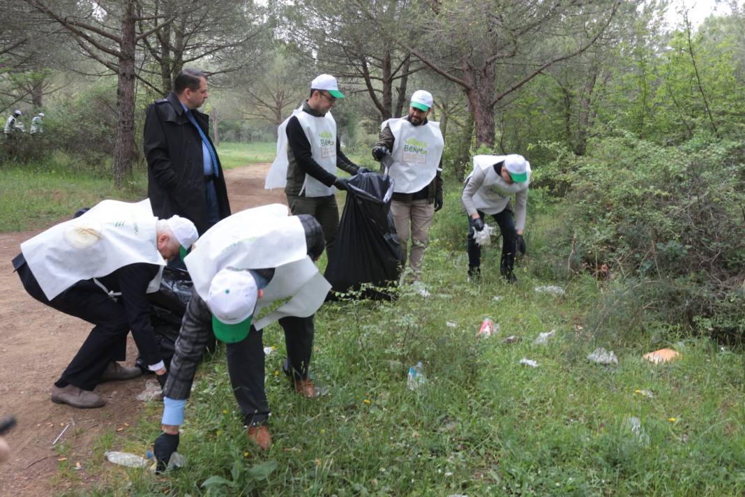
[[[331,288],[313,263],[324,245],[320,224],[311,215],[288,216],[281,204],[229,216],[194,245],[184,259],[194,291],[163,389],[163,433],[153,450],[159,469],[165,469],[179,445],[197,363],[213,334],[226,344],[230,382],[249,440],[261,449],[270,447],[263,329],[279,320],[291,367],[305,367],[307,373],[312,342],[298,347],[291,337]],[[279,302],[283,303],[277,308],[272,305]]]

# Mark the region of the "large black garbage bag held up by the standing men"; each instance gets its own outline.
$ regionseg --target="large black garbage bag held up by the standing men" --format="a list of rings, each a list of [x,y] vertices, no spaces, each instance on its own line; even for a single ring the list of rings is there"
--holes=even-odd
[[[403,265],[390,213],[393,180],[363,173],[351,177],[348,185],[334,252],[323,275],[332,285],[329,297],[370,283],[375,288],[366,288],[362,297],[390,300],[393,295],[385,288],[396,285]]]

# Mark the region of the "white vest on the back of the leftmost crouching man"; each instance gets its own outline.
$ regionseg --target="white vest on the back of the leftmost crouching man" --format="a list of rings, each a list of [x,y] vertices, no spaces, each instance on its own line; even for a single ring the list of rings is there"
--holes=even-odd
[[[150,200],[104,200],[79,218],[23,242],[21,252],[49,300],[82,279],[139,262],[161,266],[148,285],[150,293],[158,291],[165,266],[156,245],[157,220]]]

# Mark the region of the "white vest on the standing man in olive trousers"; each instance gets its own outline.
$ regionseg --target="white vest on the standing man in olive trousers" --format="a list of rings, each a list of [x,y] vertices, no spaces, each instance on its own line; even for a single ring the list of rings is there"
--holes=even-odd
[[[327,112],[323,117],[316,117],[303,112],[302,107],[294,110],[292,115],[297,117],[305,138],[311,144],[313,159],[329,173],[336,174],[336,121],[334,116],[331,112]],[[286,130],[289,120],[290,118],[285,119],[277,130],[277,156],[264,182],[265,189],[284,188],[287,185],[289,161]],[[305,194],[305,197],[327,197],[335,191],[333,186],[326,186],[309,174],[305,174],[300,194]]]

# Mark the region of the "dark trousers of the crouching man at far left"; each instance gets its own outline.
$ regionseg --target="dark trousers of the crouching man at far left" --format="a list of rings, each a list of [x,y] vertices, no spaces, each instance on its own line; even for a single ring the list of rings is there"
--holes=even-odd
[[[111,300],[91,280],[77,282],[48,300],[27,264],[23,263],[17,270],[23,288],[31,297],[95,325],[60,379],[54,383],[57,387],[73,384],[83,390],[93,390],[108,364],[123,361],[127,352],[130,325],[124,306]]]

